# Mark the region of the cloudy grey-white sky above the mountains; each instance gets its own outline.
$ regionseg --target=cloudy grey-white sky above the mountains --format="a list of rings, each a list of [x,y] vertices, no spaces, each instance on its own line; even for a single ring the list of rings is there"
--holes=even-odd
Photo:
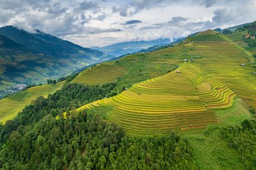
[[[81,46],[177,38],[256,20],[256,0],[0,0],[0,26]]]

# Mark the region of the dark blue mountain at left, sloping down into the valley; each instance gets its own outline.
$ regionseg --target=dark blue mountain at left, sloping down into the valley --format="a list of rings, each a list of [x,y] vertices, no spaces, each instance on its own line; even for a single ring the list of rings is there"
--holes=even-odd
[[[0,28],[0,90],[69,75],[75,69],[109,57],[40,30],[30,33],[5,26]]]

